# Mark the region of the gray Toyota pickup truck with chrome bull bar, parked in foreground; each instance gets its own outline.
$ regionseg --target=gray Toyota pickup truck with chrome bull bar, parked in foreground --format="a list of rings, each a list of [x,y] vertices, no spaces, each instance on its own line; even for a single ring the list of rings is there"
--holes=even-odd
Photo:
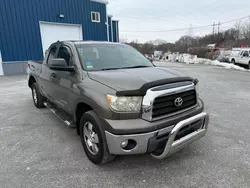
[[[58,41],[43,62],[28,63],[37,108],[76,128],[87,157],[163,159],[206,134],[209,116],[198,80],[154,66],[125,44]]]

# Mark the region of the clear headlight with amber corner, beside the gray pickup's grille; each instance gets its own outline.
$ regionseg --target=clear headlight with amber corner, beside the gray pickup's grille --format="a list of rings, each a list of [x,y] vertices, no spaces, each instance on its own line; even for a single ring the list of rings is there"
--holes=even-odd
[[[139,112],[141,110],[142,97],[107,95],[107,100],[110,107],[118,112]]]

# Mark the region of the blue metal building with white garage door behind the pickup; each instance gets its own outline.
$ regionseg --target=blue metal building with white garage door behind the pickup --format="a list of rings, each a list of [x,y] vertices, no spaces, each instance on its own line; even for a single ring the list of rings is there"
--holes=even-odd
[[[108,16],[107,4],[107,0],[0,0],[5,75],[21,73],[11,71],[23,67],[18,62],[43,59],[49,43],[57,40],[118,42],[118,21]]]

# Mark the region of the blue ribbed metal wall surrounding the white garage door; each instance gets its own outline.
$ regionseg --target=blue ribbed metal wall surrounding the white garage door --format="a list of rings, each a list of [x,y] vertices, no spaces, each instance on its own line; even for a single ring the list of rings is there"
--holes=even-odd
[[[81,24],[84,40],[107,41],[105,6],[90,0],[0,0],[3,61],[43,58],[39,21]],[[91,21],[91,11],[100,12],[101,23]]]

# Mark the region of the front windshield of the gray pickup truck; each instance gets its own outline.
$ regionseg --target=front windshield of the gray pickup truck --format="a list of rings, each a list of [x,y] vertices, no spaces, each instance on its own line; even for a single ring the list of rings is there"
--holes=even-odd
[[[134,48],[122,44],[76,44],[80,60],[87,71],[153,67]]]

